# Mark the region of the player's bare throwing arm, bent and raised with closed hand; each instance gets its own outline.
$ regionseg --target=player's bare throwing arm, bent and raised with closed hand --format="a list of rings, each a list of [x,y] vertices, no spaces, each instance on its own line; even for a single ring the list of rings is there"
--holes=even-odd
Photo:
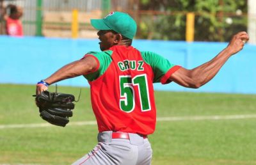
[[[211,61],[191,70],[179,68],[169,79],[187,88],[199,88],[208,83],[219,72],[230,56],[241,51],[244,43],[248,40],[249,36],[246,32],[239,32],[232,37],[228,46]]]

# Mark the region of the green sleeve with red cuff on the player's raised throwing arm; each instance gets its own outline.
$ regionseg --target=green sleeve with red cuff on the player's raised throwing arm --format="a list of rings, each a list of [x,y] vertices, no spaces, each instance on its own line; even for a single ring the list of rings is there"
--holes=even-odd
[[[173,65],[170,63],[170,61],[154,52],[144,51],[141,52],[141,56],[144,61],[153,69],[154,83],[170,83],[171,81],[168,81],[168,78],[173,73],[173,71],[175,72],[178,68],[180,68],[180,66]]]

